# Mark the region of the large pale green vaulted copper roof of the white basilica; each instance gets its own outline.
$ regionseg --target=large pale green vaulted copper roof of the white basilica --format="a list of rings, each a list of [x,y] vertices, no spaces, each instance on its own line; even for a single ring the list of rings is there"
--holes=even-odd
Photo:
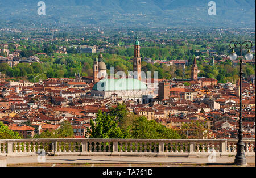
[[[96,84],[94,84],[92,90],[98,90],[98,91],[147,90],[147,86],[143,82],[133,78],[102,79]]]

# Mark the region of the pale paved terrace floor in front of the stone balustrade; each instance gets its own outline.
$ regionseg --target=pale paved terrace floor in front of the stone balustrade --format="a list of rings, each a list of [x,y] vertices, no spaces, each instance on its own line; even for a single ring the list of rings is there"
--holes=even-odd
[[[247,157],[247,166],[255,167],[255,157]],[[234,157],[128,157],[128,156],[46,156],[39,163],[36,156],[6,157],[7,166],[235,166]]]

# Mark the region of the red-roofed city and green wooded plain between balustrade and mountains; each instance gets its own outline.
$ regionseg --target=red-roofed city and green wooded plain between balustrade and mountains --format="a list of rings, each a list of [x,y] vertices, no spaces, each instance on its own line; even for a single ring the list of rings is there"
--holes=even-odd
[[[230,30],[214,29],[212,34],[217,35],[213,38],[208,37],[212,36],[210,30],[192,29],[185,39],[179,39],[181,29],[155,31],[144,37],[142,32],[105,35],[97,30],[81,38],[54,30],[48,32],[52,34],[49,38],[31,36],[34,32],[19,38],[2,29],[6,35],[1,35],[1,122],[20,138],[65,138],[54,135],[61,123],[72,128],[68,137],[83,138],[93,137],[88,131],[98,111],[108,115],[120,112],[122,117],[113,120],[122,132],[128,129],[126,122],[134,127],[135,117],[144,116],[180,138],[237,138],[239,65],[229,59],[228,41],[222,39]],[[197,33],[205,35],[198,38],[193,35]],[[237,35],[241,33],[251,39],[255,36],[253,29]],[[64,37],[56,37],[61,35]],[[255,46],[251,52],[255,54]],[[110,67],[124,75],[151,71],[152,79],[137,76],[142,81],[138,86],[111,87],[110,80],[124,76],[111,76]],[[244,60],[243,67],[244,137],[255,138],[255,58]],[[154,71],[158,72],[156,79]],[[134,85],[133,78],[127,79],[127,86]],[[98,91],[97,83],[105,87],[103,92]],[[134,118],[127,121],[131,113]],[[130,138],[135,137],[132,130]],[[46,132],[51,134],[46,136]],[[129,138],[127,134],[118,137]],[[140,137],[147,138],[136,136]]]

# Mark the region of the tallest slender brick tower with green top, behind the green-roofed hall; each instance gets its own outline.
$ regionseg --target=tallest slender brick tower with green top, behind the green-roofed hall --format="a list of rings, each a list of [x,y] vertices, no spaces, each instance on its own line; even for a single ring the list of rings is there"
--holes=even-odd
[[[133,72],[137,72],[137,77],[135,78],[141,81],[141,54],[139,50],[139,41],[136,40],[134,44]]]

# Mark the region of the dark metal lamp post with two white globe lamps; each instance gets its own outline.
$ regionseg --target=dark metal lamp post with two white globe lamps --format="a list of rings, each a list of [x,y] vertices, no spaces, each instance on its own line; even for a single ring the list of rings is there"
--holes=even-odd
[[[243,129],[242,129],[242,48],[245,45],[245,48],[248,49],[247,54],[245,55],[246,60],[252,60],[253,54],[251,54],[251,47],[253,46],[253,43],[251,41],[244,41],[243,43],[239,43],[238,41],[231,41],[229,44],[229,47],[232,49],[232,52],[229,56],[230,60],[234,61],[237,59],[237,54],[234,51],[234,49],[240,48],[240,72],[239,72],[239,78],[240,78],[240,102],[239,102],[239,129],[238,129],[238,142],[237,142],[237,155],[236,159],[234,160],[235,164],[238,165],[245,165],[246,164],[246,158],[245,158],[245,143],[242,140],[243,137]]]

